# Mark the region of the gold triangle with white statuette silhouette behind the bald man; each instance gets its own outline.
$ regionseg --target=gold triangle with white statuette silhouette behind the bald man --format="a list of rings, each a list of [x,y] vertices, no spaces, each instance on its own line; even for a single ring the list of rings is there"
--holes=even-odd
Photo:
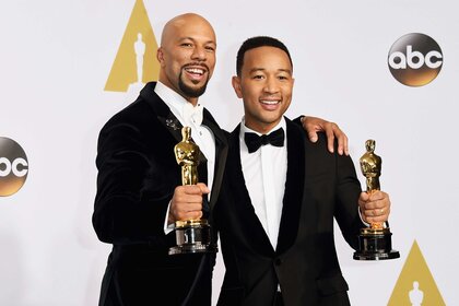
[[[129,92],[156,81],[160,72],[156,49],[145,5],[142,0],[136,0],[104,91]]]

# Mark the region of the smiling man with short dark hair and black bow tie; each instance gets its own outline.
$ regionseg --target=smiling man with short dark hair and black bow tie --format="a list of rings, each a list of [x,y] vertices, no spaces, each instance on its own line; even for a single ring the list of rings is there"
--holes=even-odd
[[[362,192],[349,156],[316,144],[283,115],[293,63],[272,37],[247,39],[233,87],[245,117],[228,138],[214,209],[226,272],[219,306],[349,305],[333,242],[333,217],[351,247],[366,222],[384,222],[387,193]],[[366,215],[374,215],[368,220]]]

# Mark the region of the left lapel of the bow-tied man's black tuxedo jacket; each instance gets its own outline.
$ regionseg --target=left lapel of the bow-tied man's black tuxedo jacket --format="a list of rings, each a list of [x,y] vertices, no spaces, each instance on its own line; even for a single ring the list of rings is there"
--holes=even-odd
[[[228,181],[229,190],[234,192],[231,203],[234,210],[228,213],[237,213],[240,224],[234,224],[243,231],[248,240],[251,240],[254,249],[266,256],[273,256],[274,249],[269,240],[264,228],[258,219],[248,193],[246,181],[240,164],[239,126],[231,133],[228,139],[228,160],[226,162],[225,180]],[[225,186],[226,188],[227,186]],[[228,210],[228,209],[226,209]]]

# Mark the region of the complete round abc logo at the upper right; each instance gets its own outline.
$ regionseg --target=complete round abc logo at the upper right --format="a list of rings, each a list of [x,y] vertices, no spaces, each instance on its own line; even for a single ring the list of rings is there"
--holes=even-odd
[[[400,37],[390,48],[388,64],[393,78],[408,86],[431,83],[443,66],[438,44],[429,36],[411,33]]]

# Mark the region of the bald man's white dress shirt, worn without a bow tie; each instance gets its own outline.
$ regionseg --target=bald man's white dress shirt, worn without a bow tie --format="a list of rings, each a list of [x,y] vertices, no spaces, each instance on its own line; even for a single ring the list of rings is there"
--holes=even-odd
[[[208,187],[212,190],[212,183],[214,177],[214,166],[215,166],[215,139],[211,129],[202,125],[203,118],[203,106],[198,102],[197,106],[193,106],[191,103],[186,101],[175,91],[170,90],[161,82],[156,83],[154,92],[164,101],[164,103],[170,108],[170,111],[177,117],[178,121],[184,127],[191,128],[191,138],[198,144],[202,154],[208,160]],[[174,151],[170,152],[174,154]],[[178,165],[177,165],[178,167]],[[210,193],[208,195],[210,199]],[[170,207],[170,205],[169,205]],[[167,216],[169,208],[167,208],[166,220],[165,220],[165,233],[169,233],[174,228],[167,226]]]

